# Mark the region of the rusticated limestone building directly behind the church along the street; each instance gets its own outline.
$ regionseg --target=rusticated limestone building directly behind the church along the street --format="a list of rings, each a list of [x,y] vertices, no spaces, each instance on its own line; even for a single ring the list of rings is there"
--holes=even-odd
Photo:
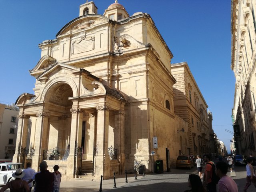
[[[185,154],[216,153],[212,113],[196,84],[186,62],[171,64],[172,75],[176,79],[173,86],[174,113],[188,122],[188,146]]]

